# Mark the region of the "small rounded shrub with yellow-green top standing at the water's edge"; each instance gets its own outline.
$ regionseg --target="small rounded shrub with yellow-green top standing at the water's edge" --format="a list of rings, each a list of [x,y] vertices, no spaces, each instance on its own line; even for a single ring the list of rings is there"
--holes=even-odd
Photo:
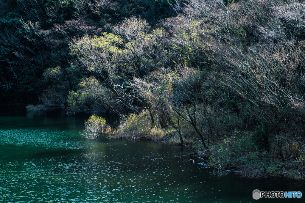
[[[96,139],[99,133],[103,129],[107,128],[107,121],[97,115],[92,115],[87,121],[85,121],[86,128],[83,130],[81,135],[88,139]]]

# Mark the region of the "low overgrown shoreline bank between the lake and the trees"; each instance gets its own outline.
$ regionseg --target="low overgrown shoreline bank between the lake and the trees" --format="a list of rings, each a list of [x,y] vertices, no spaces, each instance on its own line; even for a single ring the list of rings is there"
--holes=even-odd
[[[110,135],[107,136],[108,139],[126,139],[126,140],[148,140],[152,142],[162,142],[166,145],[179,145],[180,143],[174,143],[169,140],[168,136],[163,137],[153,137],[153,136],[130,136],[130,135]],[[231,138],[232,139],[232,138]],[[233,152],[229,153],[228,149],[224,150],[225,143],[217,143],[210,145],[209,149],[204,149],[203,146],[200,147],[200,143],[193,143],[185,145],[189,149],[194,149],[195,153],[189,153],[189,162],[203,164],[204,166],[209,166],[217,170],[216,175],[223,176],[228,173],[235,173],[239,177],[247,177],[254,179],[268,179],[268,178],[283,178],[289,180],[305,180],[304,170],[297,168],[298,162],[292,159],[281,160],[276,157],[271,157],[271,152],[260,152],[260,151],[249,151],[249,150],[239,150],[239,159],[247,160],[244,163],[239,162],[240,160],[235,160],[235,162],[230,163],[230,159],[236,158],[236,154]],[[235,156],[234,156],[235,155]],[[259,156],[252,160],[247,158],[253,156]],[[227,158],[227,160],[225,160]],[[267,159],[269,158],[269,159]],[[195,159],[195,160],[194,160]],[[196,161],[198,159],[198,161]],[[273,162],[272,162],[273,160]],[[239,164],[238,164],[239,163]]]

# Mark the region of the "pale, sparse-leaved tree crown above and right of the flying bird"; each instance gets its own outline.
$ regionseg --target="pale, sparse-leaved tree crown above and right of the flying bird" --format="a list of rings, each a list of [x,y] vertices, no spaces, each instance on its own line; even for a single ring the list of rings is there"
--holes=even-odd
[[[113,26],[112,31],[123,39],[123,57],[129,63],[127,68],[133,77],[142,77],[166,60],[162,50],[163,39],[166,37],[163,29],[149,33],[148,23],[132,16]]]

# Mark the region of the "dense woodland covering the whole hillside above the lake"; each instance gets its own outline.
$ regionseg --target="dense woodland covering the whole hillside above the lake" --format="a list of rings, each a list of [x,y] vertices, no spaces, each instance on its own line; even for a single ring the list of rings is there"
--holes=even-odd
[[[304,42],[297,0],[0,0],[0,101],[117,114],[117,137],[303,178]]]

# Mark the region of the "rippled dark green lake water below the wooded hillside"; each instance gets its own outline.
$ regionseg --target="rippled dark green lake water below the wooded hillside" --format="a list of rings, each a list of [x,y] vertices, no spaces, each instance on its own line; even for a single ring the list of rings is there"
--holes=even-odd
[[[86,118],[2,109],[0,202],[305,202],[305,194],[252,198],[255,189],[303,193],[302,181],[219,177],[199,160],[188,163],[186,148],[106,135],[82,138]]]

